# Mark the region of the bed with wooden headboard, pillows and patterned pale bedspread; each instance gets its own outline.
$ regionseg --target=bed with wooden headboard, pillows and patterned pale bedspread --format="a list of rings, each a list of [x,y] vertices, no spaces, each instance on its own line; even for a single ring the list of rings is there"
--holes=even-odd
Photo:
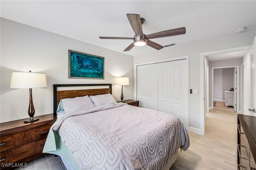
[[[173,115],[112,97],[112,84],[53,85],[54,114],[44,153],[58,155],[67,169],[168,170],[190,145]],[[70,88],[72,88],[70,90]]]

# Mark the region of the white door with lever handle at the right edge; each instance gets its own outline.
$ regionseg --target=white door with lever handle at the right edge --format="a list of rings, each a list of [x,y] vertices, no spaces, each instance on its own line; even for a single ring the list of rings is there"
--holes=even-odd
[[[254,38],[254,41],[252,43],[251,47],[251,57],[250,57],[250,115],[256,116],[255,114],[255,106],[256,106],[256,95],[255,95],[255,89],[256,89],[256,79],[255,79],[255,57],[256,57],[256,37]]]

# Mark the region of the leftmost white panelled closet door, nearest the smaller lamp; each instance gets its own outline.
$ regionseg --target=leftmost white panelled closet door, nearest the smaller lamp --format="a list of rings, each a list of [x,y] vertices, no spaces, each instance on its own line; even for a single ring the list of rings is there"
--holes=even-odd
[[[158,109],[157,64],[137,67],[137,100],[140,107]]]

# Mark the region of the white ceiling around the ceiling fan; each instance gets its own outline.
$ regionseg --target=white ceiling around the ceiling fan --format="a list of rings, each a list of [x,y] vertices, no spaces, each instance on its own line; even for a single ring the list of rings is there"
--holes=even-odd
[[[123,50],[132,40],[101,40],[99,36],[133,37],[126,14],[145,18],[144,34],[186,27],[186,34],[152,39],[160,45],[184,45],[256,28],[256,1],[80,0],[0,1],[1,17],[128,55],[150,53],[147,45]],[[167,47],[172,48],[172,47]],[[161,49],[164,50],[164,49]],[[86,52],[86,51],[84,51]]]

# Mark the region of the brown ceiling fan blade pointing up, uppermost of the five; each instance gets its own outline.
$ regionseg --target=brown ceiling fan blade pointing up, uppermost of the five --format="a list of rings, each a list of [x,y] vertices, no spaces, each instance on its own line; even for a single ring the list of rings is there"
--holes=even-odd
[[[143,32],[142,32],[142,25],[140,21],[140,15],[138,14],[126,14],[132,29],[135,33],[136,36],[142,37]]]

